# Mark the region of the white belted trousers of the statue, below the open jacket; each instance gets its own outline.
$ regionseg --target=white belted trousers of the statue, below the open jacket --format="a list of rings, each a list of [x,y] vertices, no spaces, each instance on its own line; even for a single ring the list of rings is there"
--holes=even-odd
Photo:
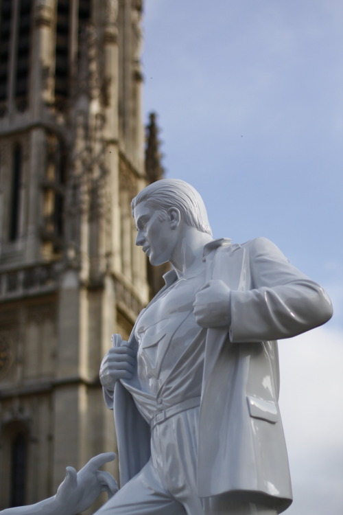
[[[276,515],[275,510],[199,498],[196,488],[199,408],[182,411],[152,430],[152,456],[141,472],[97,511],[98,515]]]

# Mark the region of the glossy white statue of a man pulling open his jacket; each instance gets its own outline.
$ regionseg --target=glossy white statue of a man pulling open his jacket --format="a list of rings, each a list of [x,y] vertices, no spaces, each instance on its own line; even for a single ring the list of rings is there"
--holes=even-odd
[[[121,490],[99,515],[274,515],[292,502],[276,339],[326,322],[324,290],[265,238],[213,240],[202,198],[163,179],[132,201],[137,245],[171,264],[100,369]]]

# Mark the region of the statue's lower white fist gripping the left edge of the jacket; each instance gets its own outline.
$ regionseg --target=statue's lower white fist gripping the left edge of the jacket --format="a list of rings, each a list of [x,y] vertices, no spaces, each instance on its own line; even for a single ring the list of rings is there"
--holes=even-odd
[[[108,390],[115,388],[115,382],[119,379],[130,379],[134,372],[136,355],[127,341],[121,341],[121,345],[110,349],[100,365],[100,381]]]

